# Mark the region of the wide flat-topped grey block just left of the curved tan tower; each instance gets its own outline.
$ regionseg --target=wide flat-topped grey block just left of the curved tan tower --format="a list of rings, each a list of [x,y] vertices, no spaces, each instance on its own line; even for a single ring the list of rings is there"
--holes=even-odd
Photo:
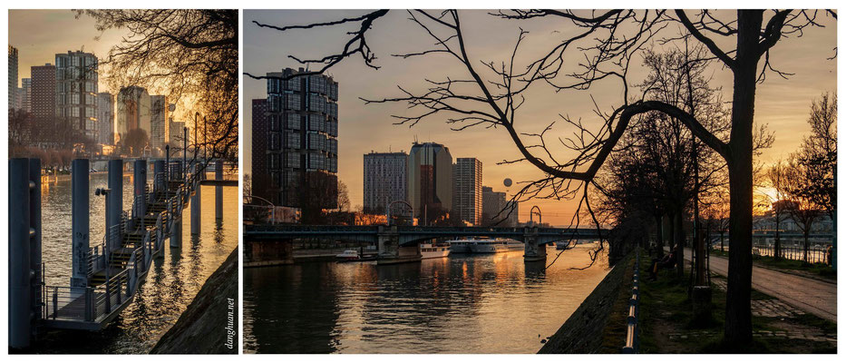
[[[365,153],[365,211],[383,213],[388,203],[406,201],[408,154]]]

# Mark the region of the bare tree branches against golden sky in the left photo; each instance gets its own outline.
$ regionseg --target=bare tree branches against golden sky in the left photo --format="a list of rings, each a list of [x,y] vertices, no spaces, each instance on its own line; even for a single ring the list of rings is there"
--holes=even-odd
[[[191,148],[238,160],[238,10],[86,10],[97,29],[128,32],[101,61],[115,87],[158,89],[186,101],[205,134]],[[194,118],[194,114],[199,117]],[[177,145],[181,149],[181,144]]]

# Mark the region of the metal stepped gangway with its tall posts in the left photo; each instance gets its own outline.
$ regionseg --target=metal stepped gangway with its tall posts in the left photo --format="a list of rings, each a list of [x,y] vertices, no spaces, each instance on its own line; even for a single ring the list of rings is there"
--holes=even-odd
[[[124,161],[108,162],[105,234],[90,240],[90,169],[72,162],[72,276],[68,285],[48,285],[42,261],[41,161],[9,160],[9,342],[26,348],[45,329],[100,330],[131,304],[152,260],[163,257],[165,240],[179,247],[182,211],[190,204],[192,235],[200,233],[200,184],[215,165],[215,216],[223,217],[222,161],[132,162],[132,203],[123,211]],[[151,183],[148,180],[151,179]],[[48,221],[49,222],[49,221]]]

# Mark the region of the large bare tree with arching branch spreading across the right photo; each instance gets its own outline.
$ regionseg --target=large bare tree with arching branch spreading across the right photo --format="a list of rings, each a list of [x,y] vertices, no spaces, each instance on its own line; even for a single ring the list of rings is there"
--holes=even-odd
[[[312,25],[263,25],[287,31],[333,25],[360,25],[349,32],[349,41],[342,51],[311,60],[305,64],[319,64],[322,72],[346,58],[360,56],[374,65],[375,56],[366,41],[367,32],[389,12],[379,10],[362,16],[339,19]],[[461,66],[463,74],[445,76],[441,80],[426,79],[427,88],[420,92],[401,87],[402,95],[367,100],[367,103],[407,103],[419,113],[397,115],[399,123],[414,124],[433,115],[446,116],[455,130],[472,127],[501,128],[520,152],[511,162],[529,162],[545,177],[528,182],[518,197],[567,198],[581,194],[579,208],[591,207],[587,201],[588,187],[599,168],[608,160],[617,142],[627,132],[631,120],[643,113],[664,113],[678,120],[706,147],[724,159],[728,169],[730,191],[728,292],[724,340],[734,347],[752,341],[751,282],[752,227],[754,174],[754,101],[757,84],[766,74],[788,74],[773,68],[770,51],[789,35],[802,35],[808,26],[819,25],[818,16],[833,11],[738,10],[729,12],[684,10],[608,10],[558,11],[514,10],[501,11],[493,16],[518,22],[547,18],[560,22],[560,40],[549,44],[548,51],[528,66],[515,66],[520,43],[527,33],[520,29],[516,44],[507,59],[494,63],[475,59],[466,44],[460,12],[407,11],[409,21],[433,40],[434,46],[398,56],[419,57],[441,55]],[[677,31],[676,31],[677,30]],[[662,35],[666,34],[666,35]],[[636,94],[630,86],[629,69],[641,51],[656,40],[677,42],[687,40],[702,44],[708,50],[707,59],[715,60],[733,78],[732,110],[727,137],[709,131],[703,123],[685,109],[647,94]],[[726,47],[721,44],[732,44]],[[570,54],[576,53],[576,54]],[[569,63],[570,55],[581,61]],[[252,74],[248,74],[253,76]],[[254,78],[267,78],[253,76]],[[569,149],[566,159],[557,158],[545,136],[551,123],[540,132],[520,131],[520,106],[526,91],[534,84],[545,84],[556,91],[589,90],[595,83],[616,83],[621,98],[616,104],[596,107],[598,121],[584,124],[564,117],[577,128],[575,137],[559,139],[557,147]],[[602,111],[603,109],[607,111]],[[577,213],[578,214],[578,213]],[[591,213],[593,214],[593,213]],[[595,220],[595,219],[594,219]]]

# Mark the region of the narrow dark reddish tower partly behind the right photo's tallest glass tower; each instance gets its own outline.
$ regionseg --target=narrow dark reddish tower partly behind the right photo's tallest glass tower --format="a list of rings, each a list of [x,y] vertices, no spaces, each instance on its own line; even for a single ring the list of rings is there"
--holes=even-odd
[[[253,100],[252,123],[252,159],[250,169],[250,193],[259,198],[270,201],[270,173],[267,170],[267,141],[270,138],[270,125],[267,122],[267,98]],[[276,193],[278,194],[278,193]]]

